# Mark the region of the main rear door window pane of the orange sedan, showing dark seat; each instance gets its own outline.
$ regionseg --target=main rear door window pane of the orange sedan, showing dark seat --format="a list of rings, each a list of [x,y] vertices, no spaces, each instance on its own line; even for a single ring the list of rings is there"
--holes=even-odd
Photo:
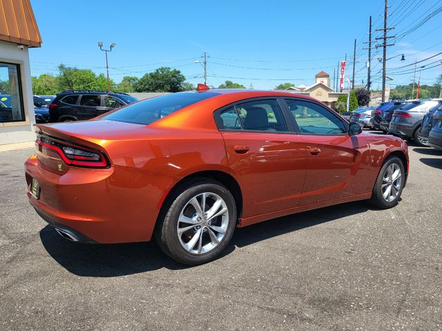
[[[287,126],[276,100],[260,100],[236,105],[243,130],[282,131]]]

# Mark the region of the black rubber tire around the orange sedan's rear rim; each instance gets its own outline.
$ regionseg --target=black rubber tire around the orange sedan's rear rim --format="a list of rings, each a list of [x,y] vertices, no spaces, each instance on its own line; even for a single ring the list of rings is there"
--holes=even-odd
[[[218,195],[227,205],[227,214],[229,216],[228,222],[226,222],[227,230],[215,248],[209,252],[193,254],[186,250],[180,241],[181,239],[177,230],[179,226],[178,219],[184,208],[189,205],[191,199],[204,192]],[[157,226],[155,227],[155,239],[164,253],[175,261],[186,265],[199,265],[212,261],[220,256],[222,251],[229,245],[229,241],[236,227],[236,221],[236,204],[229,190],[217,181],[197,179],[175,188],[168,199],[166,199],[162,212],[160,212],[160,216],[158,217]],[[202,230],[204,230],[204,226],[202,228]],[[191,229],[189,231],[193,230],[194,229]],[[186,232],[184,232],[184,234],[185,233]],[[183,234],[181,234],[181,236],[182,235]],[[207,235],[206,233],[206,236]]]

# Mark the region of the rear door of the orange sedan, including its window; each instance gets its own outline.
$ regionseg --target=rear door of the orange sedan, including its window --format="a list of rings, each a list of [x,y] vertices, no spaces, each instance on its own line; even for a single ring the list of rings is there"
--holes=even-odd
[[[218,110],[215,119],[242,189],[242,217],[297,207],[307,153],[278,100],[242,101]]]

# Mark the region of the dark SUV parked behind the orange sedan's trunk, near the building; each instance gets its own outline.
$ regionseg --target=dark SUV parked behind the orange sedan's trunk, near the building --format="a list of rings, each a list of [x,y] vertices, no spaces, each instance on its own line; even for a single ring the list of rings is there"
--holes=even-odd
[[[49,105],[49,121],[81,121],[138,101],[126,93],[78,90],[57,94]]]

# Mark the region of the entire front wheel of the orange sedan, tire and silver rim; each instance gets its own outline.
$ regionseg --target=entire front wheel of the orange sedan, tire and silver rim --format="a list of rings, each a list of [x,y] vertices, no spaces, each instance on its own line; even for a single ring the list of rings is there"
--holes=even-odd
[[[387,209],[397,205],[405,183],[405,170],[398,157],[390,157],[383,164],[374,184],[369,203]]]

